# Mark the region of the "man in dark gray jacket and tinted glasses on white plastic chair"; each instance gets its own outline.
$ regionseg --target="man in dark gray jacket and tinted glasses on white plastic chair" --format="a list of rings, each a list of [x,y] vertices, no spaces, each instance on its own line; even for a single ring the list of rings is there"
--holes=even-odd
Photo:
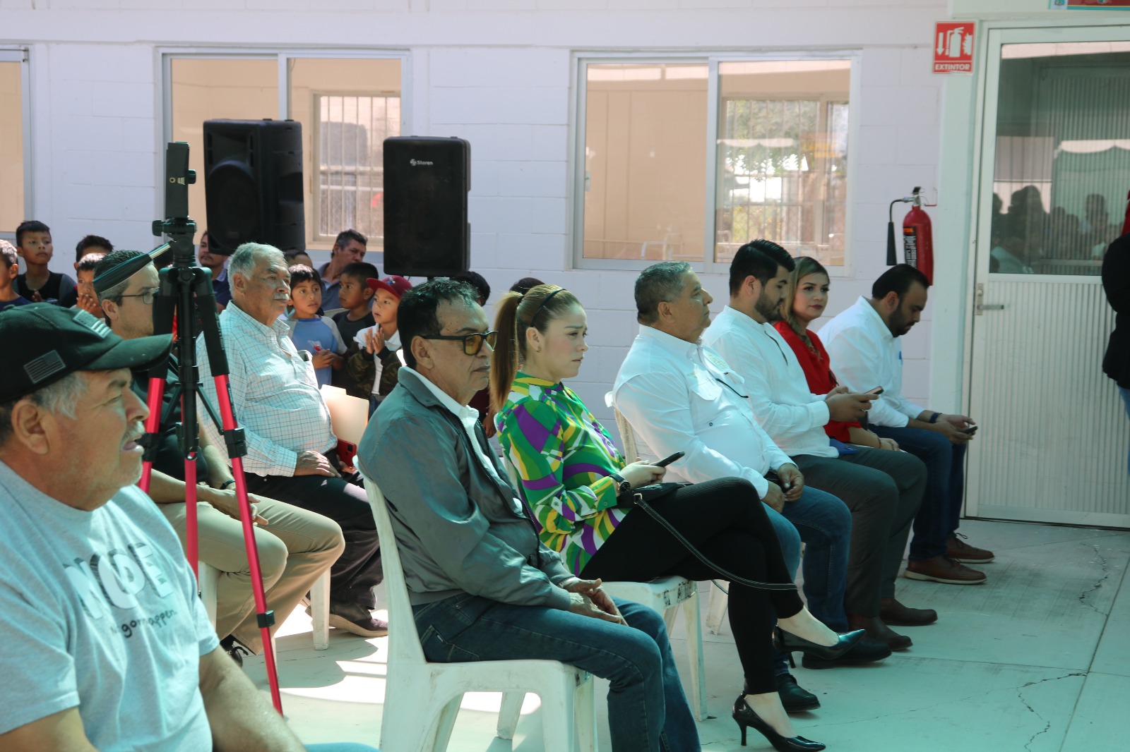
[[[579,666],[611,682],[612,749],[698,750],[662,618],[614,602],[539,542],[468,406],[497,339],[475,296],[447,279],[405,294],[407,365],[357,455],[388,500],[424,655]]]

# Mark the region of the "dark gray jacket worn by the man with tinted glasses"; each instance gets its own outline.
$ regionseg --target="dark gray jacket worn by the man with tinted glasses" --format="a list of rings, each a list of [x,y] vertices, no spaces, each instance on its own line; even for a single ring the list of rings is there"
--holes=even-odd
[[[362,471],[388,501],[412,604],[470,593],[567,611],[570,594],[557,583],[572,574],[538,540],[481,426],[476,438],[498,480],[423,378],[400,369],[400,383],[370,420],[357,451]]]

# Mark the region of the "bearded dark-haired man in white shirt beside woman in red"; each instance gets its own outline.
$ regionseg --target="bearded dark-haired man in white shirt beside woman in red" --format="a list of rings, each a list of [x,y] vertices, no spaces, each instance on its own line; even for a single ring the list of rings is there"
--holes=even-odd
[[[738,248],[730,263],[730,305],[715,316],[703,342],[746,379],[758,422],[792,457],[809,486],[834,493],[851,509],[844,592],[847,623],[902,650],[911,646],[911,639],[887,627],[880,610],[895,609],[895,578],[922,500],[925,466],[905,452],[828,439],[825,423],[864,417],[875,395],[809,391],[800,361],[772,323],[781,316],[794,266],[788,251],[771,241]],[[927,624],[938,618],[931,609],[905,612],[899,619],[905,624]]]

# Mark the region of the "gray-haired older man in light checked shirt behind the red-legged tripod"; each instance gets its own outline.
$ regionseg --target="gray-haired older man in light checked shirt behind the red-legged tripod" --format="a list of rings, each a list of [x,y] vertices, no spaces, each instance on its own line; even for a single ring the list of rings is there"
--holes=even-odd
[[[349,457],[338,457],[330,411],[318,391],[308,353],[290,341],[279,314],[290,295],[282,252],[245,243],[228,262],[232,305],[219,316],[231,370],[232,406],[244,430],[243,469],[247,490],[316,511],[341,526],[346,549],[330,569],[330,626],[362,637],[381,637],[386,621],[373,587],[383,579],[376,524],[368,497]],[[203,338],[197,342],[200,373],[210,371]],[[216,385],[203,379],[206,399],[216,404]],[[220,429],[201,408],[200,425],[209,444],[224,452]],[[227,457],[225,457],[227,460]]]

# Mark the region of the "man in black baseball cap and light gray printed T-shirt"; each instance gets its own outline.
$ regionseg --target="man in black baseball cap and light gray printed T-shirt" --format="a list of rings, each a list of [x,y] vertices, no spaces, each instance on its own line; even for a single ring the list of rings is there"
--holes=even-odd
[[[123,340],[49,304],[0,314],[0,749],[302,750],[218,640],[134,483],[146,405]]]

